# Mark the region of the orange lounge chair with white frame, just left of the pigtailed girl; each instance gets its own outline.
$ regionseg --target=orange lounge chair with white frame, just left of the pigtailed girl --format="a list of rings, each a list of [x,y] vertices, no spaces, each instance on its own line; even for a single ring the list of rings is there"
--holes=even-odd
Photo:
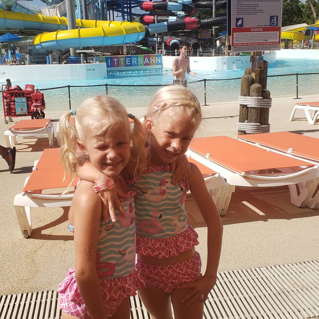
[[[23,237],[32,233],[31,207],[70,206],[74,192],[42,194],[43,189],[65,188],[69,185],[69,174],[64,174],[58,148],[45,149],[33,172],[26,178],[22,192],[14,197],[19,227]],[[72,182],[76,186],[77,179]]]

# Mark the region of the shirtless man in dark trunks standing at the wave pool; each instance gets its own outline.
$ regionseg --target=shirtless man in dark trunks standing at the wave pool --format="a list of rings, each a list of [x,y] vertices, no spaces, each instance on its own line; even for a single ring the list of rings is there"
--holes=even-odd
[[[173,61],[174,85],[182,85],[187,87],[186,71],[192,77],[196,76],[195,72],[191,72],[189,68],[189,57],[187,54],[187,45],[185,43],[179,45],[180,56]]]

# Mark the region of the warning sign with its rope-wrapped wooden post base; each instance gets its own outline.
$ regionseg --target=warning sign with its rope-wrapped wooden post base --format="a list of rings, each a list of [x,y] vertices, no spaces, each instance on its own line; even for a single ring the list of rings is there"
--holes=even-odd
[[[282,0],[232,0],[227,5],[231,7],[227,13],[229,49],[250,52],[251,62],[241,78],[238,135],[266,133],[271,99],[263,51],[280,50]]]

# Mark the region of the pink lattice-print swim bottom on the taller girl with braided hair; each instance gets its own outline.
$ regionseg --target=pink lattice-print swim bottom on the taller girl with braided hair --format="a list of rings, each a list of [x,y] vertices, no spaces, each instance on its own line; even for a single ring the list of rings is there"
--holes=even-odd
[[[202,261],[198,252],[189,260],[172,265],[150,265],[136,260],[135,268],[145,284],[171,293],[177,285],[186,284],[200,277]]]

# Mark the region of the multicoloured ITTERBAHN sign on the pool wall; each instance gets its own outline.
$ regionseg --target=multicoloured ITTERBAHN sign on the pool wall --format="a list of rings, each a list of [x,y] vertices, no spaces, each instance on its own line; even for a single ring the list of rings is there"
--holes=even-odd
[[[138,56],[107,56],[105,63],[108,70],[154,69],[162,67],[162,55],[145,54]]]

